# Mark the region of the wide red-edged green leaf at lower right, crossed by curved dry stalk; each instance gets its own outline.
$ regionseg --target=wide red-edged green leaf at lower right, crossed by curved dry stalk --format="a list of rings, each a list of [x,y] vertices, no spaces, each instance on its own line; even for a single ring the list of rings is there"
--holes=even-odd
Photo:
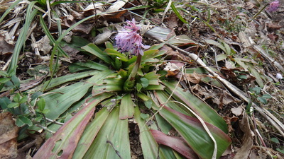
[[[180,136],[185,139],[187,144],[197,155],[201,158],[212,158],[214,142],[198,119],[172,110],[166,106],[164,106],[159,113],[178,131]],[[231,144],[231,139],[217,126],[206,122],[205,124],[217,142],[217,158],[219,158]]]

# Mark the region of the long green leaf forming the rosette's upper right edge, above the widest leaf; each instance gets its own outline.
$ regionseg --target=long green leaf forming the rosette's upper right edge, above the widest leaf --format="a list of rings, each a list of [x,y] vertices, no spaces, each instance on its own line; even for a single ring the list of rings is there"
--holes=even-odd
[[[197,113],[204,122],[208,122],[213,124],[214,126],[219,127],[225,133],[228,132],[228,127],[226,126],[226,122],[222,117],[219,116],[215,110],[212,109],[205,102],[195,97],[195,95],[190,94],[189,92],[185,92],[182,88],[176,87],[176,83],[170,83],[163,81],[163,84],[166,86],[165,90],[170,94],[173,93],[173,98],[178,100],[185,105],[189,106],[195,113]],[[163,104],[163,103],[162,103]]]

